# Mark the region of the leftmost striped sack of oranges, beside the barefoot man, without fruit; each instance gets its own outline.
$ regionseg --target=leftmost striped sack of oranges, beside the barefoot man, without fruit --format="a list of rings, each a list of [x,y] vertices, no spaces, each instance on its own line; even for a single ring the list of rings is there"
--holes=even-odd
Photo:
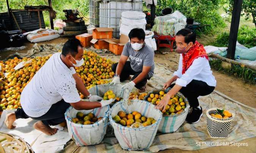
[[[107,131],[108,112],[110,107],[107,105],[93,110],[75,110],[69,107],[65,113],[65,118],[68,126],[68,133],[78,146],[94,145],[101,143]],[[77,112],[83,114],[93,113],[97,118],[103,119],[90,125],[75,124],[72,118],[76,117]]]

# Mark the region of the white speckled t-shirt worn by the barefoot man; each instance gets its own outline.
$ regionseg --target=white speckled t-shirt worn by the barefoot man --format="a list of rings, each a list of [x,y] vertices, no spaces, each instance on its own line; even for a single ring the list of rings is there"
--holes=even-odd
[[[65,102],[80,101],[75,87],[74,69],[69,69],[60,59],[61,53],[53,54],[26,85],[20,103],[28,116],[39,117],[50,107],[64,99]]]

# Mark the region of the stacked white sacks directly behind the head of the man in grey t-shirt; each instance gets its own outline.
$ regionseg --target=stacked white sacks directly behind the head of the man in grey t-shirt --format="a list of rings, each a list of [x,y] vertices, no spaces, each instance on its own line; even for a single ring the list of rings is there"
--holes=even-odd
[[[125,11],[121,14],[121,20],[119,23],[120,36],[124,34],[128,36],[129,32],[134,28],[146,29],[147,21],[145,19],[146,14],[137,11]]]

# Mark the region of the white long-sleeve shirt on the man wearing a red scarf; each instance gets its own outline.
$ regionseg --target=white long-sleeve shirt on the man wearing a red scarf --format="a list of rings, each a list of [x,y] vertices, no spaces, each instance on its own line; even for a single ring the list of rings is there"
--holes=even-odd
[[[182,74],[182,54],[179,57],[178,70],[174,72],[173,76],[178,76],[176,84],[186,87],[192,80],[199,80],[206,82],[209,86],[216,86],[215,77],[210,70],[209,61],[205,57],[198,57],[192,65]]]

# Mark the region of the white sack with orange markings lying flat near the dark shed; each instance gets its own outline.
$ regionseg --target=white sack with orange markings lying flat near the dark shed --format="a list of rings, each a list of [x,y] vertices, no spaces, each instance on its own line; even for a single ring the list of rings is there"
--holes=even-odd
[[[60,37],[57,30],[42,28],[24,33],[24,36],[26,35],[27,39],[33,43],[43,42]]]

